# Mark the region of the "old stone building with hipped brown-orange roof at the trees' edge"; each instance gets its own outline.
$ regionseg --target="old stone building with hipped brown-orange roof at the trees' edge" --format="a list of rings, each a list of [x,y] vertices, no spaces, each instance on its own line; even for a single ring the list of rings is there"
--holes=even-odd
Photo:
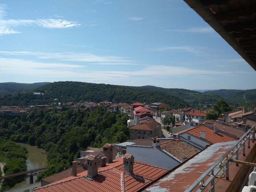
[[[134,139],[150,139],[162,136],[162,126],[160,123],[148,120],[142,124],[130,127],[130,140]]]

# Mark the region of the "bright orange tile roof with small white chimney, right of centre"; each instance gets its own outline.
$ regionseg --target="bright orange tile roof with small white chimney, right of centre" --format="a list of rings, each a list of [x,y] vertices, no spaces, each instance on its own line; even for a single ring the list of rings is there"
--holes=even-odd
[[[187,132],[195,135],[197,137],[201,137],[201,130],[205,131],[205,140],[211,142],[211,143],[220,143],[220,142],[226,142],[226,141],[235,141],[236,139],[229,137],[227,135],[224,135],[223,133],[215,134],[213,132],[213,129],[208,128],[204,125],[199,125],[197,127],[190,128]]]

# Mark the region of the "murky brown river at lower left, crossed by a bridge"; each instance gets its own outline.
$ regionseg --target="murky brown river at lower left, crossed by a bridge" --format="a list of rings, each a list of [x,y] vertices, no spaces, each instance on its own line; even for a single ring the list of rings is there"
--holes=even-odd
[[[40,149],[37,146],[31,146],[31,145],[23,144],[23,143],[17,143],[17,144],[25,146],[28,149],[28,153],[27,153],[28,159],[26,161],[27,170],[47,166],[46,151],[44,149]],[[33,177],[34,183],[36,181],[36,178],[37,178],[37,176]],[[17,183],[11,189],[16,189],[16,188],[26,186],[26,185],[29,185],[29,178],[27,178],[26,180],[24,180],[20,183]],[[9,190],[11,190],[11,189],[9,189]]]

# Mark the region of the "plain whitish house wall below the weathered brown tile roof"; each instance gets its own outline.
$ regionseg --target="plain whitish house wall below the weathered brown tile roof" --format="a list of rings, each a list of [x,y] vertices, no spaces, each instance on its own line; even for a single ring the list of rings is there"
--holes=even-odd
[[[172,159],[167,154],[156,148],[134,147],[127,145],[126,152],[132,154],[137,161],[150,163],[166,169],[172,169],[180,163]]]

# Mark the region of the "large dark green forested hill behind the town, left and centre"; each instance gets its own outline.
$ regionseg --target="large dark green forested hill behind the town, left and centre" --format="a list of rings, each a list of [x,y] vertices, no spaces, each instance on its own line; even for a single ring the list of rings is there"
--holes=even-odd
[[[44,95],[33,95],[25,92],[14,95],[5,95],[0,98],[0,105],[28,105],[28,104],[50,104],[55,98],[64,97],[64,102],[73,101],[111,101],[112,103],[138,102],[164,102],[173,108],[188,106],[179,96],[172,96],[158,92],[157,90],[146,90],[139,87],[128,87],[110,84],[95,84],[85,82],[54,82],[36,88],[36,92],[44,92]]]

